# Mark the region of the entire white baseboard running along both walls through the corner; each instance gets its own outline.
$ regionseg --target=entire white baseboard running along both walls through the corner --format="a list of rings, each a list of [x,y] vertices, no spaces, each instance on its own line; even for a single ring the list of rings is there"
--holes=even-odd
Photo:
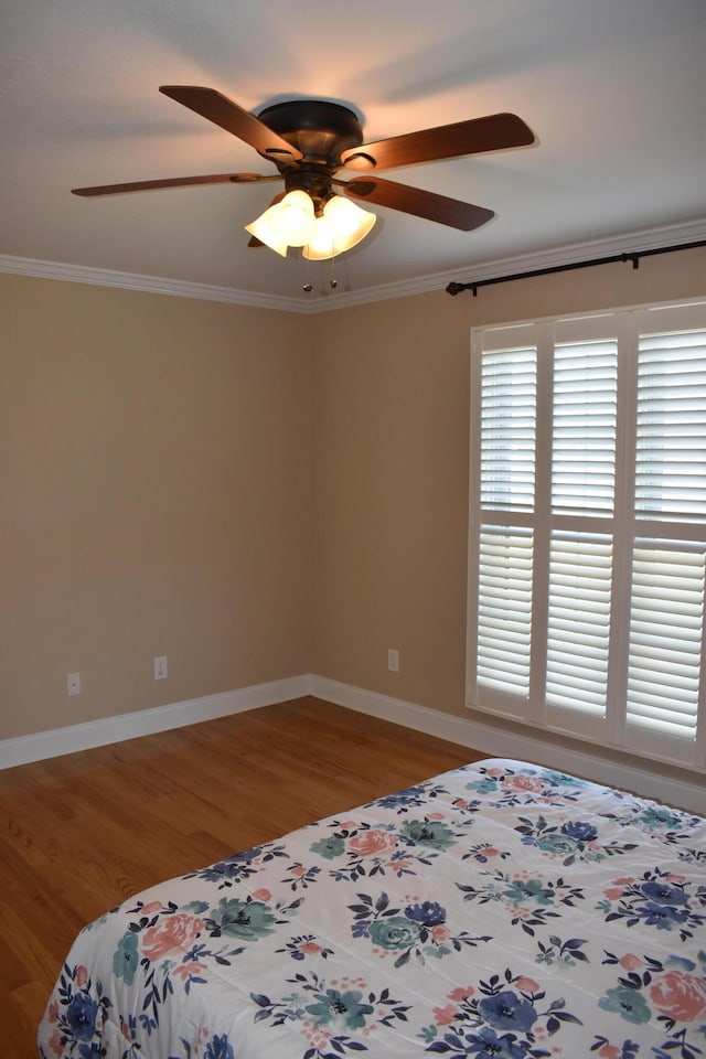
[[[622,766],[595,753],[571,750],[534,736],[520,735],[495,728],[470,717],[457,717],[429,709],[417,703],[368,692],[311,673],[255,684],[249,687],[207,695],[203,698],[157,706],[153,709],[119,714],[83,725],[69,725],[51,731],[0,740],[0,769],[40,761],[44,758],[89,750],[124,739],[168,731],[202,720],[239,714],[261,706],[271,706],[304,695],[379,717],[438,739],[447,739],[461,747],[470,747],[488,757],[518,758],[550,768],[563,769],[597,783],[633,791],[643,798],[653,798],[670,805],[680,805],[691,812],[706,814],[704,781],[684,782],[652,773],[635,766]]]

